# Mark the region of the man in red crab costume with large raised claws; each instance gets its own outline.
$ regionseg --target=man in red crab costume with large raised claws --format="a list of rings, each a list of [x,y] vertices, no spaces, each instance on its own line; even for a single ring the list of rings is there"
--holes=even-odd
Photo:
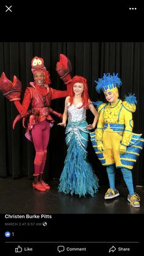
[[[13,82],[11,82],[3,72],[0,78],[0,90],[5,97],[13,101],[20,113],[13,122],[13,129],[18,120],[23,118],[24,126],[26,117],[29,117],[25,135],[27,139],[34,142],[35,147],[34,181],[32,186],[38,191],[46,191],[50,189],[50,186],[43,180],[43,170],[46,162],[50,128],[54,122],[50,114],[62,118],[62,114],[51,109],[51,100],[68,96],[71,81],[71,62],[65,55],[60,54],[60,61],[56,65],[57,73],[63,82],[67,84],[67,90],[65,91],[49,87],[51,79],[41,57],[35,56],[32,59],[31,66],[34,82],[30,82],[31,87],[26,87],[22,104],[20,103],[22,86],[16,76],[13,77]],[[27,111],[30,104],[31,109]]]

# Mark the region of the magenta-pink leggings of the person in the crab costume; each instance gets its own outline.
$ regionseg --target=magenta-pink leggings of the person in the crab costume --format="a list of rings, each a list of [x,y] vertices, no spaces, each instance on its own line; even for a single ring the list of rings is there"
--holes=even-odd
[[[43,174],[47,154],[46,148],[48,147],[49,142],[49,133],[50,126],[47,120],[34,125],[32,128],[32,139],[36,152],[34,160],[34,175]]]

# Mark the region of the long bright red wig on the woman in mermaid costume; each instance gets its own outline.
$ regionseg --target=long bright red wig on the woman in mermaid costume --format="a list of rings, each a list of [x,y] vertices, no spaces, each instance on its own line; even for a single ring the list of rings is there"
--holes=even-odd
[[[83,76],[74,76],[73,79],[71,79],[71,90],[70,90],[70,106],[73,104],[73,98],[74,98],[74,91],[73,86],[76,84],[76,82],[81,82],[84,85],[84,90],[82,92],[82,106],[84,108],[88,109],[88,105],[90,104],[90,98],[88,96],[88,86],[87,86],[87,79],[85,79]]]

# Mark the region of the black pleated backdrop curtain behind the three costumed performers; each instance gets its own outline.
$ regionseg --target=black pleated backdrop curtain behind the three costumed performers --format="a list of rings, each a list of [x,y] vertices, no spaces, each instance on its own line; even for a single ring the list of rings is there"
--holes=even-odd
[[[98,95],[95,82],[103,73],[118,73],[122,80],[120,98],[129,92],[137,96],[137,111],[133,114],[134,132],[144,135],[144,43],[142,42],[13,42],[0,43],[0,73],[5,72],[7,78],[13,81],[16,75],[23,85],[23,93],[29,82],[33,81],[31,60],[34,56],[43,57],[45,67],[50,72],[51,87],[65,90],[65,85],[56,72],[56,62],[59,54],[65,54],[73,67],[72,76],[81,75],[87,78],[88,92],[92,101],[103,100],[104,95]],[[23,99],[23,93],[21,99]],[[52,101],[52,108],[63,112],[65,99]],[[13,178],[24,175],[32,178],[34,173],[34,146],[24,137],[21,121],[16,123],[15,130],[12,123],[18,111],[0,93],[0,175]],[[48,159],[45,167],[46,178],[59,178],[62,172],[67,147],[62,127],[57,126],[59,119],[51,129],[48,146]],[[93,115],[87,111],[88,123],[92,123]],[[144,152],[139,156],[134,170],[134,185],[144,185]],[[88,145],[88,159],[99,177],[100,184],[107,184],[106,169],[99,163],[92,145]],[[117,185],[123,185],[120,172],[117,171]]]

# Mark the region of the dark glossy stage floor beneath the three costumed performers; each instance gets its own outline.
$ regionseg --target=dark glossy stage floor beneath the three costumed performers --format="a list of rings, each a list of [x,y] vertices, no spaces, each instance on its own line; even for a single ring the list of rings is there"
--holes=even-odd
[[[0,178],[0,213],[68,213],[68,214],[143,214],[144,188],[135,188],[140,196],[140,208],[131,207],[127,200],[128,190],[118,186],[120,196],[104,200],[106,186],[101,186],[95,197],[64,195],[57,192],[59,180],[49,181],[51,189],[39,192],[32,188],[32,180]]]

